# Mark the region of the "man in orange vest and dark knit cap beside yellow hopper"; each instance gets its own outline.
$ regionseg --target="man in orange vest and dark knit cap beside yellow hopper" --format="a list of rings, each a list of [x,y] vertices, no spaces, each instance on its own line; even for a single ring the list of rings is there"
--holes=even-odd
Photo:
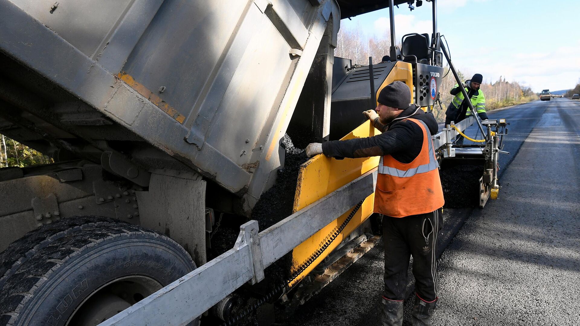
[[[411,102],[411,90],[396,81],[380,93],[375,110],[364,115],[382,133],[374,137],[311,143],[306,155],[335,158],[380,156],[376,213],[383,216],[385,291],[382,325],[403,323],[407,270],[413,256],[415,302],[411,324],[431,324],[437,302],[437,234],[443,227],[443,190],[431,135],[437,121]]]

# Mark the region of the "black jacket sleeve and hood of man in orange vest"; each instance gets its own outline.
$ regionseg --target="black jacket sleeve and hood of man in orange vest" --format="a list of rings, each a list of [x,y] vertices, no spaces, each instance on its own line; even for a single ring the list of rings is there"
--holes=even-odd
[[[322,153],[335,158],[358,158],[391,154],[401,163],[410,163],[421,151],[423,131],[412,121],[401,121],[414,118],[425,122],[431,135],[437,133],[437,121],[432,113],[425,113],[421,108],[406,108],[393,122],[385,127],[380,135],[349,140],[333,140],[322,143]]]

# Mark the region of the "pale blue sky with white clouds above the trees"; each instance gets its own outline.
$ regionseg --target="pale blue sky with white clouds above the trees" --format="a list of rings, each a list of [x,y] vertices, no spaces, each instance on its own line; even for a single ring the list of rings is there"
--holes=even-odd
[[[483,74],[488,82],[505,76],[535,91],[578,83],[580,1],[438,0],[437,7],[438,31],[466,74]],[[399,5],[395,15],[398,40],[409,32],[432,32],[429,2],[412,12]],[[388,33],[389,9],[343,19],[340,28],[357,24],[368,35]]]

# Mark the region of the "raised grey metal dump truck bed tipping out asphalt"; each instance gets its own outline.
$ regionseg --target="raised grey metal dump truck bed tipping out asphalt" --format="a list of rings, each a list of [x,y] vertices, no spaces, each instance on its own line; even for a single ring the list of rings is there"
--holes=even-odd
[[[2,133],[57,160],[111,151],[146,171],[194,169],[235,194],[237,213],[273,182],[315,56],[331,76],[340,17],[332,0],[0,9]],[[320,140],[329,111],[316,96],[307,129]]]

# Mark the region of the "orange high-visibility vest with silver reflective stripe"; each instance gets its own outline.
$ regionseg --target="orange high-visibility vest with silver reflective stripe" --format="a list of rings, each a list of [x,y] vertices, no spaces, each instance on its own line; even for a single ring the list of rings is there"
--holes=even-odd
[[[405,120],[418,124],[423,131],[421,151],[411,163],[382,156],[376,178],[374,211],[395,218],[430,213],[445,202],[429,128],[418,119]]]

